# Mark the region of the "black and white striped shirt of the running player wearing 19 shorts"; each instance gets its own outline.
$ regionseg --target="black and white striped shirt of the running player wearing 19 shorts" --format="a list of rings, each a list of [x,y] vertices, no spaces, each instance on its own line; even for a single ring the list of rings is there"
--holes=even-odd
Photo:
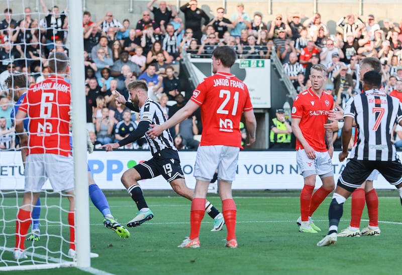
[[[161,125],[166,122],[166,117],[163,114],[161,106],[157,102],[147,98],[144,105],[140,108],[140,122],[141,121],[149,122],[149,124]],[[160,151],[166,148],[177,151],[173,144],[173,139],[170,135],[169,129],[164,130],[155,140],[150,139],[147,134],[145,134],[145,137],[149,144],[149,148],[151,149],[152,156],[160,153]]]

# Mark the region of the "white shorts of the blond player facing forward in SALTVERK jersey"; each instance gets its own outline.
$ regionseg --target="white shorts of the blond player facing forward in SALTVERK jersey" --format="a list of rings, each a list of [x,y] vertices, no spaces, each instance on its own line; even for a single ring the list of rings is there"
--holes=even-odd
[[[316,159],[312,160],[307,157],[306,151],[300,149],[296,151],[296,162],[300,175],[307,178],[311,175],[319,175],[326,177],[334,175],[332,160],[328,152],[316,152]]]

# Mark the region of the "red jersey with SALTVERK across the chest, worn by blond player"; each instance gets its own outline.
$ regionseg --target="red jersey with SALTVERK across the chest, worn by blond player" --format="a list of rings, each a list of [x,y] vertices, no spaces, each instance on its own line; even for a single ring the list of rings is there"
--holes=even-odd
[[[334,98],[324,91],[321,97],[318,97],[311,88],[308,88],[294,98],[292,117],[300,118],[300,130],[309,145],[317,152],[327,152],[324,124],[327,123],[328,112],[333,107]],[[303,146],[296,140],[296,150],[299,149],[303,149]]]

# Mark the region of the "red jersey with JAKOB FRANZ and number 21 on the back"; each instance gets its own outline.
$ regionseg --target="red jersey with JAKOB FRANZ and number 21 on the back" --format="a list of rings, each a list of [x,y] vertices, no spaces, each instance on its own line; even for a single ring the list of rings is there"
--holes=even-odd
[[[253,109],[246,84],[233,74],[218,72],[199,83],[190,100],[201,106],[200,146],[243,148],[240,119],[243,111]]]

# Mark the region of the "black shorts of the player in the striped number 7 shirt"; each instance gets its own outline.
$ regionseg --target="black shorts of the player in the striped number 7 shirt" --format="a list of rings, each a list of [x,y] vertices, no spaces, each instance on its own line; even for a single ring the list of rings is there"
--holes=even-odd
[[[338,179],[338,186],[353,192],[362,185],[374,169],[377,169],[391,185],[402,182],[402,164],[399,160],[382,162],[351,159]]]

